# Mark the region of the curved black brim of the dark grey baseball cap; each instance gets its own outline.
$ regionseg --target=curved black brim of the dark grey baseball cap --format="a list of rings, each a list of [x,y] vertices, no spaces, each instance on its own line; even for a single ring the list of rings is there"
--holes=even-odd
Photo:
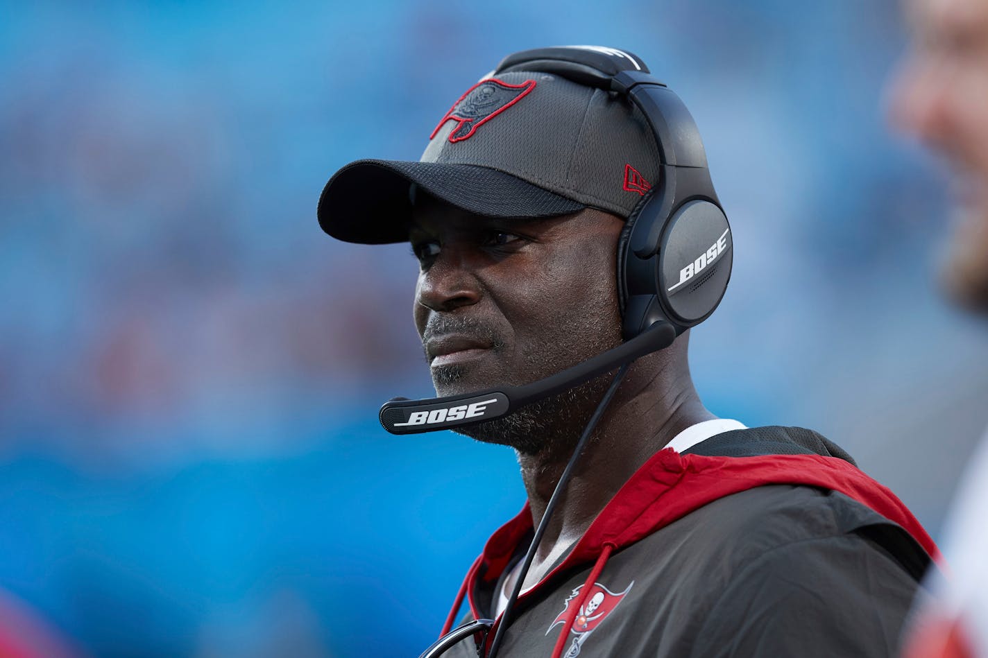
[[[453,206],[495,217],[551,217],[586,207],[488,167],[358,160],[329,179],[319,198],[319,225],[345,242],[404,242],[412,183]]]

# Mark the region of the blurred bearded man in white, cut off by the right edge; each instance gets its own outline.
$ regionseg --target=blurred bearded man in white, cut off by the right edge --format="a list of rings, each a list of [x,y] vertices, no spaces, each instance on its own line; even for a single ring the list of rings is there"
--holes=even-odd
[[[956,210],[943,261],[950,295],[988,311],[988,0],[911,0],[914,39],[891,94],[893,123],[943,154]],[[988,444],[945,528],[952,577],[931,576],[910,656],[988,656]]]

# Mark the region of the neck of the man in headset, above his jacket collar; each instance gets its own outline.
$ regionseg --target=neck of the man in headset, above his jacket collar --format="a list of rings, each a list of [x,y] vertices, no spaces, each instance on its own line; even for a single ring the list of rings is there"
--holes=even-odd
[[[612,403],[580,455],[563,498],[549,520],[525,587],[537,583],[586,533],[617,490],[655,452],[688,427],[715,418],[703,407],[689,379],[686,382],[688,385],[682,389],[666,390],[665,395],[642,392]],[[535,526],[571,455],[519,454]]]

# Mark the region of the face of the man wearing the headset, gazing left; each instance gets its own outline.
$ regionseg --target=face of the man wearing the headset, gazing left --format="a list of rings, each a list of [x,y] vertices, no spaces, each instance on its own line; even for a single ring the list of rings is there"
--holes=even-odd
[[[529,383],[617,346],[622,226],[592,209],[503,219],[420,200],[409,232],[420,263],[414,315],[436,392]],[[538,452],[544,435],[589,418],[585,398],[599,389],[578,387],[463,433]]]

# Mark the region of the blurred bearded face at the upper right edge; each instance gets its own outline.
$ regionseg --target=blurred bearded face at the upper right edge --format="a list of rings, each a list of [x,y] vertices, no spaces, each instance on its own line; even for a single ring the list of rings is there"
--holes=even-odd
[[[957,204],[945,279],[988,311],[988,0],[907,0],[913,50],[895,79],[893,122],[947,157]]]

